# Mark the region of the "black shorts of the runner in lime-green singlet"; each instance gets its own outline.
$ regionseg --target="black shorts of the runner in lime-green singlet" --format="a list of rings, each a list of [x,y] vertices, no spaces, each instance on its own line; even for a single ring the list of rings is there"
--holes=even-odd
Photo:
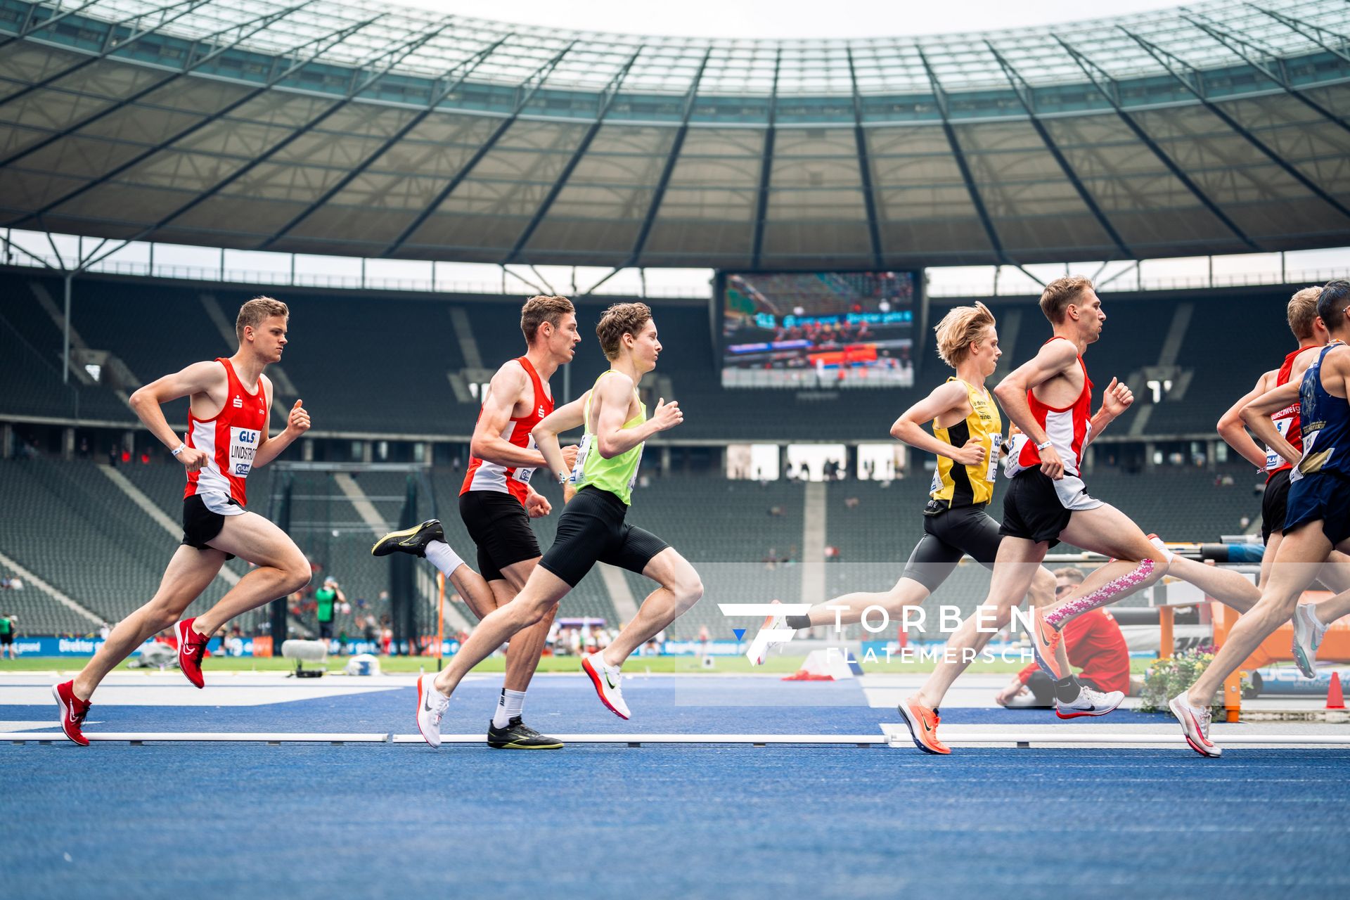
[[[558,538],[539,561],[576,587],[595,563],[643,573],[670,546],[651,532],[626,525],[628,503],[598,487],[583,487],[558,519]]]

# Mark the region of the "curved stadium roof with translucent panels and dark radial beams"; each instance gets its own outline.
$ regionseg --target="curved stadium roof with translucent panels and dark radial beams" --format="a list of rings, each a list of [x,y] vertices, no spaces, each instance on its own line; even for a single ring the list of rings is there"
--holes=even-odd
[[[1350,3],[736,40],[369,1],[0,0],[0,220],[729,269],[1346,246]]]

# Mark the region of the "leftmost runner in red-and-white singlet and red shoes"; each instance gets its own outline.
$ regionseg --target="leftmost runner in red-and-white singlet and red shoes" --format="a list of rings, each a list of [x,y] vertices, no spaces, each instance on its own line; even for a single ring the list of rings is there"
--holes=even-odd
[[[235,320],[239,349],[234,356],[193,363],[131,395],[131,409],[188,471],[182,546],[169,561],[154,598],[117,623],[74,680],[51,688],[61,707],[61,729],[76,743],[89,743],[81,726],[94,688],[146,640],[171,625],[178,638],[178,665],[200,688],[201,657],[220,626],[309,583],[309,561],[294,541],[244,509],[248,472],[274,460],[309,430],[309,413],[297,399],[286,429],[275,437],[267,434],[273,389],[262,370],[281,362],[289,317],[290,310],[281,301],[255,297],[239,309]],[[185,440],[169,428],[161,409],[180,397],[190,398]],[[180,622],[188,604],[235,556],[256,568],[209,610]]]

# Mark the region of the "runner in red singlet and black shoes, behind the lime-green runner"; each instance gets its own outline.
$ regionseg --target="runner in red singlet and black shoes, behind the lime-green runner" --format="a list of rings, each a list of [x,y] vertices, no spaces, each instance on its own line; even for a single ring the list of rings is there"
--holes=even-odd
[[[471,459],[459,490],[459,517],[478,548],[478,571],[466,564],[446,542],[437,519],[393,532],[375,542],[371,553],[393,552],[425,556],[444,572],[464,603],[479,619],[525,587],[539,564],[539,540],[531,518],[548,515],[552,505],[531,487],[531,476],[547,466],[535,448],[531,429],[554,412],[548,379],[570,363],[580,343],[576,310],[566,297],[531,297],[520,310],[525,355],[502,363],[483,397]],[[563,451],[567,461],[576,448]],[[555,750],[558,738],[541,735],[524,723],[525,692],[539,668],[548,640],[554,610],[536,625],[514,636],[506,653],[506,679],[487,726],[487,746],[510,750]]]

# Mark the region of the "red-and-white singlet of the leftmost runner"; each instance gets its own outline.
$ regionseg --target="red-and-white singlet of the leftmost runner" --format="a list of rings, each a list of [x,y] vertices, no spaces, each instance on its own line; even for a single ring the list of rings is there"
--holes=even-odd
[[[205,451],[207,461],[196,472],[188,472],[182,497],[188,499],[217,493],[243,506],[244,479],[267,428],[267,394],[262,387],[262,375],[250,394],[228,359],[216,362],[225,367],[225,405],[212,418],[197,418],[188,407],[188,440],[184,443]]]

